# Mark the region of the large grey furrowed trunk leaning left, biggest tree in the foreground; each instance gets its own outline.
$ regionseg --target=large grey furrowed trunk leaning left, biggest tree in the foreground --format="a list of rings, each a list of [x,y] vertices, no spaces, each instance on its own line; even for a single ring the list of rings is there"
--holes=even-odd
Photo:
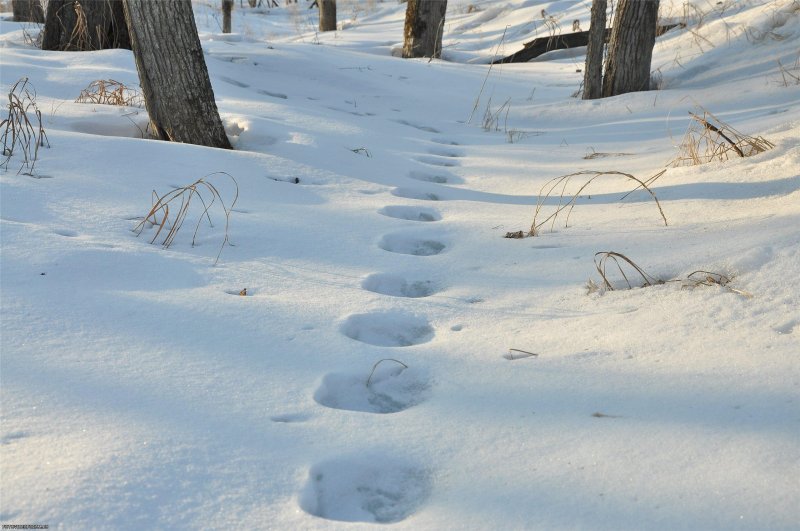
[[[162,140],[230,149],[191,0],[125,0],[124,5],[153,134]]]

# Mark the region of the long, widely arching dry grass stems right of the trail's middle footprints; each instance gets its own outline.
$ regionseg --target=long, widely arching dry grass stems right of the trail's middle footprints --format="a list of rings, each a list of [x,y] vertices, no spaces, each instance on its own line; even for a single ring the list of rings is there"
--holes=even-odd
[[[661,170],[660,172],[656,173],[652,177],[647,180],[641,180],[637,177],[634,177],[630,173],[620,172],[620,171],[579,171],[576,173],[570,173],[569,175],[562,175],[561,177],[556,177],[555,179],[551,179],[544,186],[539,190],[539,196],[536,201],[536,212],[533,215],[533,223],[531,224],[531,229],[528,232],[528,236],[536,236],[539,234],[539,229],[545,225],[547,222],[551,224],[551,230],[553,225],[555,225],[556,218],[564,211],[566,211],[566,218],[565,218],[565,226],[569,224],[569,216],[572,213],[572,209],[575,206],[575,202],[578,200],[578,197],[586,190],[586,188],[592,184],[597,178],[601,176],[619,176],[624,177],[630,181],[634,181],[636,183],[636,187],[622,196],[620,200],[625,199],[633,193],[634,191],[638,190],[639,188],[643,188],[650,194],[655,201],[656,206],[658,207],[658,212],[661,214],[661,219],[664,220],[664,225],[667,225],[667,218],[664,215],[664,211],[661,208],[661,203],[658,201],[656,194],[650,189],[650,186],[656,179],[661,177],[666,170]],[[566,200],[568,194],[566,194],[567,186],[569,185],[570,181],[575,177],[581,177],[585,180],[583,184],[578,188],[578,191],[572,194],[572,196]],[[558,190],[560,188],[560,191]],[[545,202],[549,197],[558,194],[558,205],[555,211],[547,216],[544,219],[541,219],[542,209],[545,206]]]

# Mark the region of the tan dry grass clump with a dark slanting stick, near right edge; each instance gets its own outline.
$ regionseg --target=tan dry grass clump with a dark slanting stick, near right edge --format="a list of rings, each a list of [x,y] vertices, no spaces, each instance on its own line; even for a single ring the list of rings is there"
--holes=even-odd
[[[673,167],[696,166],[711,161],[726,161],[731,157],[751,157],[775,147],[764,137],[740,133],[707,110],[689,112],[689,128],[679,146]]]

